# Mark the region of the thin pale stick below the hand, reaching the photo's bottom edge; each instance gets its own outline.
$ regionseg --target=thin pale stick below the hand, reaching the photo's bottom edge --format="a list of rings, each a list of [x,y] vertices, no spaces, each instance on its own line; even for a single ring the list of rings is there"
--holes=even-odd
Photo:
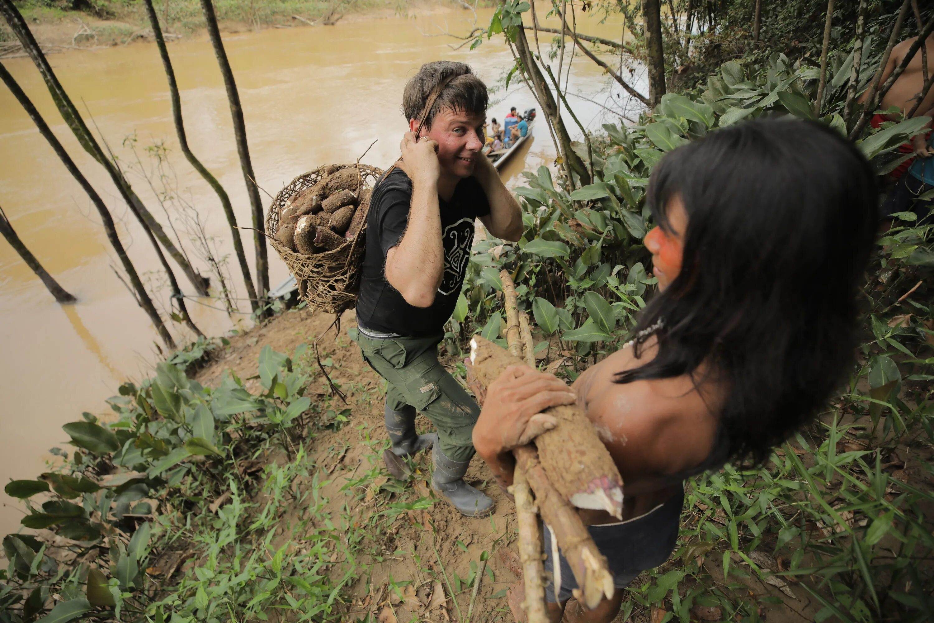
[[[534,452],[534,450],[532,450]],[[528,623],[545,623],[545,566],[542,564],[542,535],[538,529],[538,516],[531,498],[531,488],[525,470],[516,468],[513,486],[516,498],[516,521],[519,530],[519,560],[522,561],[522,579],[525,601],[522,608]]]

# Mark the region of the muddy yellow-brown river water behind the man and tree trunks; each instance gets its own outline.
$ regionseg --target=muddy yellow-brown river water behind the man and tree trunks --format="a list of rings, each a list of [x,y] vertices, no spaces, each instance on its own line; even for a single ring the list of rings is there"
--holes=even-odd
[[[478,23],[488,24],[489,15],[480,11]],[[473,21],[470,11],[457,9],[413,17],[346,19],[333,27],[224,35],[260,186],[275,194],[292,177],[320,164],[356,161],[375,139],[362,162],[387,166],[398,154],[406,130],[400,112],[405,80],[429,61],[462,61],[471,64],[488,85],[499,84],[491,93],[488,115],[501,122],[509,106],[520,111],[536,106],[521,83],[512,83],[508,92],[502,89],[502,78],[513,64],[502,35],[474,51],[469,46],[454,50],[460,41],[442,35],[445,30],[467,33]],[[582,18],[578,26],[581,32],[617,40],[622,32],[619,21],[601,24]],[[543,51],[551,37],[542,35]],[[169,53],[191,149],[230,193],[239,224],[249,226],[230,111],[210,44],[205,36],[194,37],[170,43]],[[570,54],[569,49],[565,67]],[[133,165],[129,177],[134,189],[163,226],[169,219],[146,178],[138,174],[134,151],[125,139],[135,136],[136,152],[149,169],[147,148],[164,141],[171,164],[166,173],[178,196],[197,210],[206,233],[216,237],[219,254],[230,255],[229,271],[239,284],[230,231],[217,196],[177,150],[155,45],[73,50],[49,60],[86,120],[90,121],[90,111],[120,162]],[[157,304],[165,309],[168,292],[160,285],[158,261],[103,169],[79,148],[34,65],[26,58],[3,63],[119,220],[124,245],[144,280],[152,282]],[[553,66],[557,64],[556,59]],[[573,59],[569,84],[570,92],[601,102],[616,97],[616,90],[604,88],[606,78],[600,68],[580,54]],[[580,97],[571,97],[571,104],[589,128],[619,120]],[[568,123],[573,125],[571,120]],[[502,171],[510,187],[522,181],[522,170],[553,163],[555,149],[545,124],[537,124],[532,132],[533,140]],[[263,201],[268,204],[268,196],[263,195]],[[5,89],[0,90],[0,205],[27,247],[65,290],[78,297],[78,304],[56,304],[19,256],[0,242],[0,481],[6,483],[9,478],[33,478],[46,471],[46,462],[53,459],[50,447],[70,451],[61,426],[79,419],[82,411],[106,415],[106,398],[124,380],[149,375],[159,355],[154,346],[158,336],[149,320],[111,270],[119,262],[88,197]],[[171,206],[168,210],[179,225],[177,212]],[[181,230],[179,234],[191,248],[187,234]],[[245,232],[243,238],[251,255],[252,236]],[[269,253],[275,287],[288,274],[275,250],[270,248]],[[205,262],[195,256],[192,261],[207,274]],[[253,270],[252,257],[249,262]],[[182,290],[191,293],[178,271],[177,277]],[[242,285],[237,286],[237,296],[246,296]],[[239,304],[248,310],[246,301]],[[216,309],[221,306],[210,298],[188,302],[192,319],[208,335],[222,335],[234,326],[248,328],[248,316],[233,322]],[[178,325],[172,331],[179,341],[191,338]],[[16,531],[21,504],[4,493],[0,503],[0,535]]]

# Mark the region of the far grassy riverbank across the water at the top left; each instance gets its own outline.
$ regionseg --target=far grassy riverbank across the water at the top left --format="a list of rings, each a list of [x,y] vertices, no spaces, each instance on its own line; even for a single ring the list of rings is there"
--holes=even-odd
[[[94,50],[152,40],[152,29],[141,2],[27,0],[16,4],[46,53]],[[199,0],[155,0],[153,4],[167,39],[182,39],[204,32],[205,19]],[[454,0],[288,0],[276,3],[220,0],[214,4],[220,30],[225,33],[431,15],[458,5]],[[76,5],[82,8],[71,8]],[[24,53],[16,37],[6,23],[0,23],[0,58],[21,55]]]

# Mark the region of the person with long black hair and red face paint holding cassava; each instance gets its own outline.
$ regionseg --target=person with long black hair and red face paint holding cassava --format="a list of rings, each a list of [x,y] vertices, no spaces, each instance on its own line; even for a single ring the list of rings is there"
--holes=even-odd
[[[508,369],[488,387],[474,427],[477,453],[508,486],[509,450],[554,426],[540,412],[577,402],[623,476],[622,522],[580,511],[616,593],[594,610],[571,601],[573,575],[559,557],[562,586],[557,595],[545,590],[553,621],[613,620],[623,588],[671,555],[684,480],[728,460],[764,463],[854,361],[877,195],[869,163],[849,141],[801,120],[718,130],[668,153],[647,201],[658,227],[644,243],[659,291],[633,340],[573,389]],[[546,571],[555,563],[549,556]],[[517,620],[521,602],[518,585],[510,595]]]

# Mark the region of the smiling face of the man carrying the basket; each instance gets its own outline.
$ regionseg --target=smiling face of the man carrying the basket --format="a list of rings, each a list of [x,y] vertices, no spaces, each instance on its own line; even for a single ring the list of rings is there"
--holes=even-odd
[[[442,175],[471,177],[477,158],[482,158],[483,123],[481,114],[443,108],[434,116],[432,128],[422,132],[438,144],[438,163]],[[417,132],[418,122],[411,121],[410,128]]]

